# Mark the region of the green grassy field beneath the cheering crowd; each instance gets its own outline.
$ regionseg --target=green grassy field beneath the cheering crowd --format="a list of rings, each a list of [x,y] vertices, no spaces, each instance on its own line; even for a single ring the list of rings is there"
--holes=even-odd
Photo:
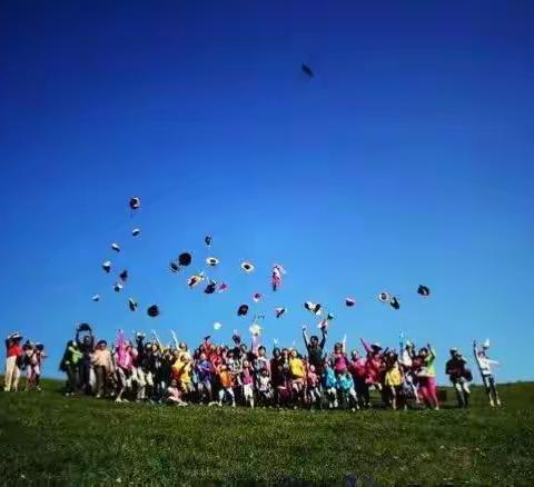
[[[0,392],[0,481],[532,485],[534,384],[500,390],[501,409],[475,388],[469,410],[352,414],[116,405],[44,381]]]

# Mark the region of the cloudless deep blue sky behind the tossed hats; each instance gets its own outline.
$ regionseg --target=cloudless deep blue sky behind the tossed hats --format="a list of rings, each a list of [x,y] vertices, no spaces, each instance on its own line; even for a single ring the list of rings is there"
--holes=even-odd
[[[442,369],[490,337],[498,378],[532,379],[534,3],[365,3],[2,1],[2,335],[43,341],[56,375],[79,321],[195,345],[218,320],[228,340],[263,291],[268,345],[301,345],[312,300],[336,315],[329,346],[404,330]],[[184,250],[191,270],[220,258],[230,291],[170,274]],[[130,271],[121,294],[108,258]]]

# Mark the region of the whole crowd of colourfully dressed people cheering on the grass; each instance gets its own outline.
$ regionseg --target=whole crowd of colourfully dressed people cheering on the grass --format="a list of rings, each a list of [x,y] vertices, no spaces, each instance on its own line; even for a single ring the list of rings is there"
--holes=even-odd
[[[408,405],[439,409],[436,352],[429,344],[416,349],[413,342],[400,340],[398,349],[389,349],[362,339],[360,354],[348,352],[344,340],[334,344],[327,354],[327,330],[320,331],[320,339],[308,337],[303,327],[305,354],[294,347],[275,346],[268,358],[258,336],[253,336],[250,346],[237,334],[231,337],[231,346],[216,345],[205,337],[190,350],[174,334],[174,346],[165,347],[156,334],[147,340],[137,332],[130,341],[119,331],[110,347],[106,340],[96,340],[91,327],[82,324],[76,338],[67,344],[60,369],[67,375],[67,396],[87,394],[113,398],[116,402],[354,411],[372,407],[369,390],[374,389],[390,409]],[[6,340],[6,390],[17,390],[22,368],[27,371],[26,387],[39,389],[43,347],[29,340],[21,346],[21,340],[19,334]],[[487,357],[487,346],[473,346],[490,404],[501,406],[492,372],[492,365],[497,362]],[[456,390],[458,407],[468,407],[473,375],[457,349],[451,349],[445,372]]]

